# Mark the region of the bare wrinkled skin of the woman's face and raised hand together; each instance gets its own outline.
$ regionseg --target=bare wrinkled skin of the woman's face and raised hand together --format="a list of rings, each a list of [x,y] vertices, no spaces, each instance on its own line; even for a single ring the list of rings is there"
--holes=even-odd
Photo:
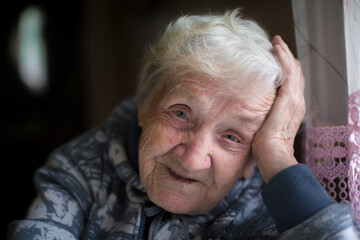
[[[303,77],[281,38],[273,44],[286,77],[276,99],[270,87],[241,99],[199,77],[181,82],[148,113],[139,108],[140,179],[155,204],[178,214],[206,213],[241,176],[251,176],[252,155],[265,181],[296,164]]]

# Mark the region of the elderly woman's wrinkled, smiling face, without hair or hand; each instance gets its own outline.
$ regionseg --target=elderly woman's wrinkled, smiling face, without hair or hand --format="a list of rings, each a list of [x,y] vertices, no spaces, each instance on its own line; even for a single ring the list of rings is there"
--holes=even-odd
[[[274,97],[274,89],[239,99],[206,81],[182,82],[147,114],[139,109],[140,179],[150,200],[178,214],[214,208],[244,173]]]

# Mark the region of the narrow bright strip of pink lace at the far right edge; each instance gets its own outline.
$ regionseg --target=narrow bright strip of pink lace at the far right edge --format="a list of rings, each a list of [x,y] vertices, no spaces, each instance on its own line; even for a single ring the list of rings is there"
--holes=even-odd
[[[360,91],[349,96],[349,193],[355,215],[360,221]]]

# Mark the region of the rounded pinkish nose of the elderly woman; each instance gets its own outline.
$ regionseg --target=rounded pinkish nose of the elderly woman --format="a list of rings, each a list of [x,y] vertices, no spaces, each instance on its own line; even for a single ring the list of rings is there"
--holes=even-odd
[[[189,171],[210,168],[212,161],[210,151],[211,139],[204,136],[188,138],[174,149],[182,166]]]

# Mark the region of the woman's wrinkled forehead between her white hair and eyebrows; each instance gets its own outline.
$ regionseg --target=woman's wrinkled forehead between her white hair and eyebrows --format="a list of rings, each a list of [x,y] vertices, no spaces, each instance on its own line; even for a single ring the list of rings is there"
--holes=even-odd
[[[185,100],[196,105],[198,109],[212,111],[214,116],[236,116],[246,122],[263,120],[272,106],[275,90],[268,88],[263,91],[247,91],[248,94],[244,97],[214,82],[183,81],[170,89],[162,102],[175,103]]]

